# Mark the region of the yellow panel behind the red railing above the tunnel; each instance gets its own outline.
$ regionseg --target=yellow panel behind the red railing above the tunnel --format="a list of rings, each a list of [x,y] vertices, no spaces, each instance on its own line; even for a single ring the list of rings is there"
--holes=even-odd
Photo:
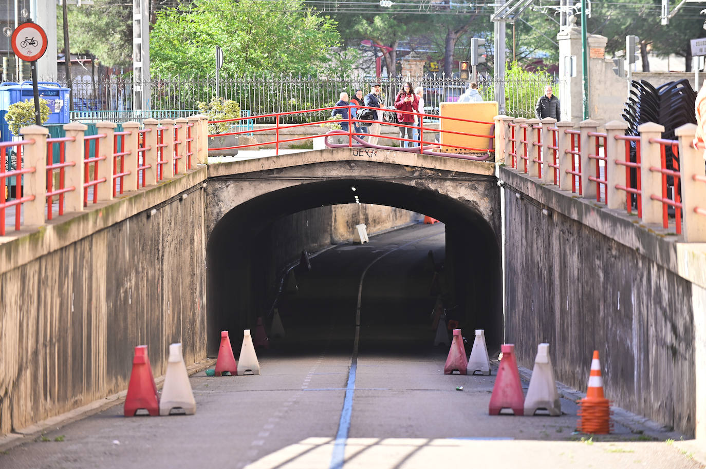
[[[439,105],[439,114],[443,117],[455,117],[471,119],[473,121],[484,121],[491,123],[473,123],[463,121],[453,121],[451,119],[440,119],[441,130],[452,130],[453,132],[474,133],[476,135],[493,135],[493,117],[498,115],[498,103],[495,101],[484,102],[442,102]],[[460,147],[470,147],[479,149],[493,148],[493,139],[487,137],[471,137],[470,135],[457,135],[454,133],[439,133],[439,143],[441,152],[447,153],[484,153],[481,150],[461,150],[448,145],[458,145]],[[447,145],[447,146],[444,146]]]

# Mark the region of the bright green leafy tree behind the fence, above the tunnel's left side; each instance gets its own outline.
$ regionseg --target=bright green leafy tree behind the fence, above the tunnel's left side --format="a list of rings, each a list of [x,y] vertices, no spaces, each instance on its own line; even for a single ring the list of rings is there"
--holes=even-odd
[[[335,21],[301,0],[196,0],[157,13],[150,37],[151,72],[191,76],[213,71],[220,45],[224,75],[316,73],[339,41]]]

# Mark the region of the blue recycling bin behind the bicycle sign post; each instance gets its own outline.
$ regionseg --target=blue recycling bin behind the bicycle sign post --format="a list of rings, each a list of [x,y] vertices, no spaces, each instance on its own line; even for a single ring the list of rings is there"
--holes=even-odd
[[[52,81],[37,83],[40,99],[49,104],[49,119],[45,123],[68,123],[68,98],[70,90]],[[31,81],[22,83],[0,83],[0,142],[9,142],[13,138],[10,126],[5,121],[5,114],[11,104],[29,99],[34,102],[34,90]]]

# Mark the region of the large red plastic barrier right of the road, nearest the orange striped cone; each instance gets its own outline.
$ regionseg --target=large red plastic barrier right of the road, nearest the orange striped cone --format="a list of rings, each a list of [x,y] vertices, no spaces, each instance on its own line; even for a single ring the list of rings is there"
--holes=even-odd
[[[515,345],[503,343],[501,351],[503,359],[498,367],[498,377],[495,379],[493,394],[490,396],[488,412],[490,415],[499,415],[501,410],[510,408],[515,415],[524,415],[525,398],[522,396],[520,371],[517,370],[517,360],[515,360]]]

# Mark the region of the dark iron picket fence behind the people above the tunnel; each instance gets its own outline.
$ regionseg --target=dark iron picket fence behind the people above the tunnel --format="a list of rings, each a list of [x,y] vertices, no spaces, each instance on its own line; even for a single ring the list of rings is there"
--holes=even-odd
[[[424,87],[424,111],[426,114],[438,114],[441,102],[455,102],[467,87],[467,82],[444,75],[424,75],[411,79],[385,78],[381,82],[381,97],[385,107],[393,107],[395,95],[408,80],[412,82],[414,87]],[[561,87],[561,83],[556,78],[498,82],[489,75],[481,75],[478,83],[479,91],[486,101],[495,101],[496,87],[505,87],[505,114],[527,118],[534,116],[534,105],[537,98],[542,96],[544,86],[552,85],[555,90],[557,87]],[[101,114],[106,111],[117,113],[114,114],[115,116],[120,116],[121,112],[130,116],[139,116],[137,111],[133,114],[127,112],[133,110],[133,90],[136,85],[150,93],[152,113],[196,110],[199,102],[208,102],[212,97],[218,95],[226,99],[233,99],[240,104],[241,109],[248,109],[252,116],[258,116],[333,106],[342,91],[347,92],[350,97],[357,89],[361,89],[364,94],[367,94],[370,80],[254,75],[222,78],[217,84],[215,78],[183,77],[158,78],[138,83],[133,80],[131,75],[114,75],[109,80],[74,85],[72,96],[74,109],[76,112],[92,111],[95,112],[95,116],[109,115]],[[326,118],[325,114],[325,111],[322,111],[320,116],[292,114],[287,116],[282,123],[298,123],[311,118]],[[75,115],[79,116],[80,114]],[[258,123],[265,122],[258,121]]]

